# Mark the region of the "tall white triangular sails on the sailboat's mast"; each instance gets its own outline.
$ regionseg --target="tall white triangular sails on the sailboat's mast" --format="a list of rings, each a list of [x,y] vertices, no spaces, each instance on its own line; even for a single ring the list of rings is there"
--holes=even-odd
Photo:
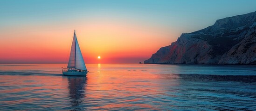
[[[83,61],[83,56],[77,42],[76,31],[74,32],[73,42],[71,46],[68,68],[79,70],[87,70]]]

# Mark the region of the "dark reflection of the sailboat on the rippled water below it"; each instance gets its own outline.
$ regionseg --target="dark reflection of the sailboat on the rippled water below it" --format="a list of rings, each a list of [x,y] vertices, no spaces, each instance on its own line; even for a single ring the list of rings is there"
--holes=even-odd
[[[83,103],[84,100],[84,87],[87,83],[87,77],[67,77],[69,81],[68,89],[69,89],[69,99],[71,103],[71,107],[73,110],[81,110],[79,109],[79,105]],[[81,108],[81,107],[80,107]]]

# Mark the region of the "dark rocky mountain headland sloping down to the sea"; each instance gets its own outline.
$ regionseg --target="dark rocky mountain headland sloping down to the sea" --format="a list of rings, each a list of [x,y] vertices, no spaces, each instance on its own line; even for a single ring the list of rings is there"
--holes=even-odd
[[[205,29],[181,34],[144,63],[256,64],[256,12],[219,19]]]

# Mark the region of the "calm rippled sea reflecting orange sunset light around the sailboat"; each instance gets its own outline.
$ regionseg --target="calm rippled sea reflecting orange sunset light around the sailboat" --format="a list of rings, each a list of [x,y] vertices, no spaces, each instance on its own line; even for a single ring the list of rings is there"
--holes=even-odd
[[[0,64],[0,111],[256,110],[256,66]]]

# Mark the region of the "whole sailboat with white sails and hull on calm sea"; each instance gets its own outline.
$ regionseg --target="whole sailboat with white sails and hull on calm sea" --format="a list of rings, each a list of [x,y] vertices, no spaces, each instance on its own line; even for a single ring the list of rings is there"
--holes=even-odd
[[[63,75],[86,76],[89,71],[85,67],[83,56],[76,38],[76,30],[74,32],[73,42],[69,56],[69,64],[67,68],[62,68]]]

